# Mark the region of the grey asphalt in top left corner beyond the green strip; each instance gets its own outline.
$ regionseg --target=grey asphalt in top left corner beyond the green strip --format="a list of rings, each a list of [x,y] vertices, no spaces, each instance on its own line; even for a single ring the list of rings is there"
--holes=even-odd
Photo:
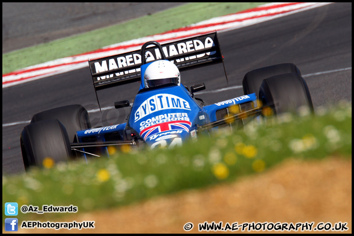
[[[2,53],[116,25],[183,2],[3,2]]]

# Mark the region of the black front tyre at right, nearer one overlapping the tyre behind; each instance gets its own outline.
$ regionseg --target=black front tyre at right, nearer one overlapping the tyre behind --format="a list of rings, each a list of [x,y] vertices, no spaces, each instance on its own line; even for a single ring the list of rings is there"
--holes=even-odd
[[[297,113],[302,106],[314,112],[306,81],[297,73],[276,75],[263,80],[259,98],[265,105],[275,105],[275,115]]]

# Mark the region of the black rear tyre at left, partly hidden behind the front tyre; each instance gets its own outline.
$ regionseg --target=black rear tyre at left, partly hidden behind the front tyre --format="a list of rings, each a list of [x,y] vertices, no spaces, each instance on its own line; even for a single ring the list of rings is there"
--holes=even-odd
[[[31,123],[41,120],[58,119],[66,128],[70,142],[76,143],[76,131],[89,129],[89,114],[82,105],[68,105],[37,113]]]

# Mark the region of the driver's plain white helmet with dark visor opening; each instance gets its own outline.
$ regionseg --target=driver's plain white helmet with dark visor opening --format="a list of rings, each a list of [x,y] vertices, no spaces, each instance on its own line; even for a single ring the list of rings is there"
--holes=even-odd
[[[180,75],[177,66],[168,60],[156,60],[148,65],[144,74],[147,88],[175,83],[180,85]]]

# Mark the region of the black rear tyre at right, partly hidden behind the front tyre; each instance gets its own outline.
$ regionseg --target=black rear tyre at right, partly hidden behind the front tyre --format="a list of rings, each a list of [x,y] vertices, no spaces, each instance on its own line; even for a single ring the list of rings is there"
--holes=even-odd
[[[247,72],[242,81],[244,95],[250,93],[256,93],[256,95],[258,95],[264,79],[286,73],[296,73],[301,75],[300,70],[293,63],[271,65]]]

